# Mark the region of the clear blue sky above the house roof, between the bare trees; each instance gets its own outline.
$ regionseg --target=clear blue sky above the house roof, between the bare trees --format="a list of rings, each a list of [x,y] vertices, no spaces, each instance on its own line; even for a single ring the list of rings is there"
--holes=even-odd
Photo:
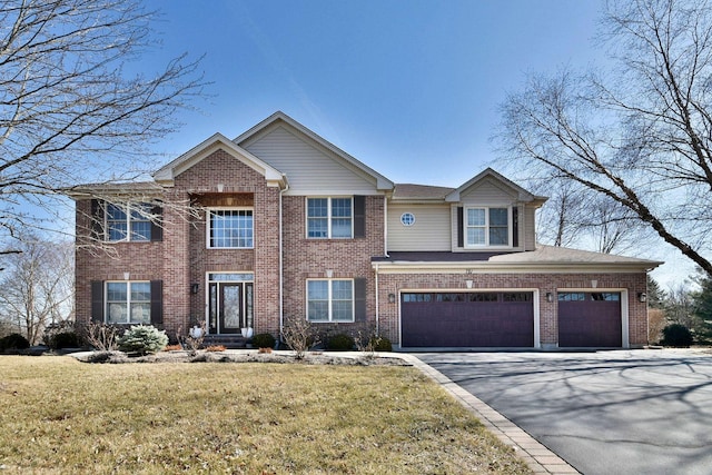
[[[137,67],[205,55],[211,82],[179,132],[156,144],[164,162],[281,110],[395,182],[457,187],[502,164],[491,140],[498,107],[527,73],[605,61],[593,41],[597,0],[146,4],[160,12],[161,44]],[[641,257],[674,260],[654,274],[663,285],[692,274],[662,248]]]

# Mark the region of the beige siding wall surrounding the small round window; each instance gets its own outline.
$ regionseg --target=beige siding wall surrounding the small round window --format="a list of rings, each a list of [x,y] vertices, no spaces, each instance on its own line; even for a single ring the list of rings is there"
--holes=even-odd
[[[388,205],[388,250],[451,250],[449,205]],[[413,226],[403,226],[400,216],[412,212]]]

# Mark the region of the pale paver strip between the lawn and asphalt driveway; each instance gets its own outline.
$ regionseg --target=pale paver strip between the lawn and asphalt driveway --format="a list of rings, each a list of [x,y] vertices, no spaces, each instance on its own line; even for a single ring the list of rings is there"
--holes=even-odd
[[[502,414],[453,383],[437,369],[408,354],[393,354],[413,364],[423,374],[438,383],[459,404],[475,415],[487,429],[504,444],[514,448],[516,454],[526,462],[535,474],[577,474],[563,458],[536,442],[532,436],[517,427]]]

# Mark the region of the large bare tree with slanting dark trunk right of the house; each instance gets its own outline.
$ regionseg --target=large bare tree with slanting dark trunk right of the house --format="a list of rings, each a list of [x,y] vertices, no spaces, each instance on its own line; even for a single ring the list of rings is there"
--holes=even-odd
[[[503,150],[619,204],[712,275],[710,3],[610,1],[602,26],[615,67],[531,76],[503,105]]]

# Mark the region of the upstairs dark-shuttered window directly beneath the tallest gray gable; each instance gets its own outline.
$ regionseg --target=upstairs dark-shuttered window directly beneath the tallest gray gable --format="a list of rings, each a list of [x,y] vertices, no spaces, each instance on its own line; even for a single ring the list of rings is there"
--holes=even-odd
[[[307,237],[314,239],[352,238],[352,198],[307,198]]]

